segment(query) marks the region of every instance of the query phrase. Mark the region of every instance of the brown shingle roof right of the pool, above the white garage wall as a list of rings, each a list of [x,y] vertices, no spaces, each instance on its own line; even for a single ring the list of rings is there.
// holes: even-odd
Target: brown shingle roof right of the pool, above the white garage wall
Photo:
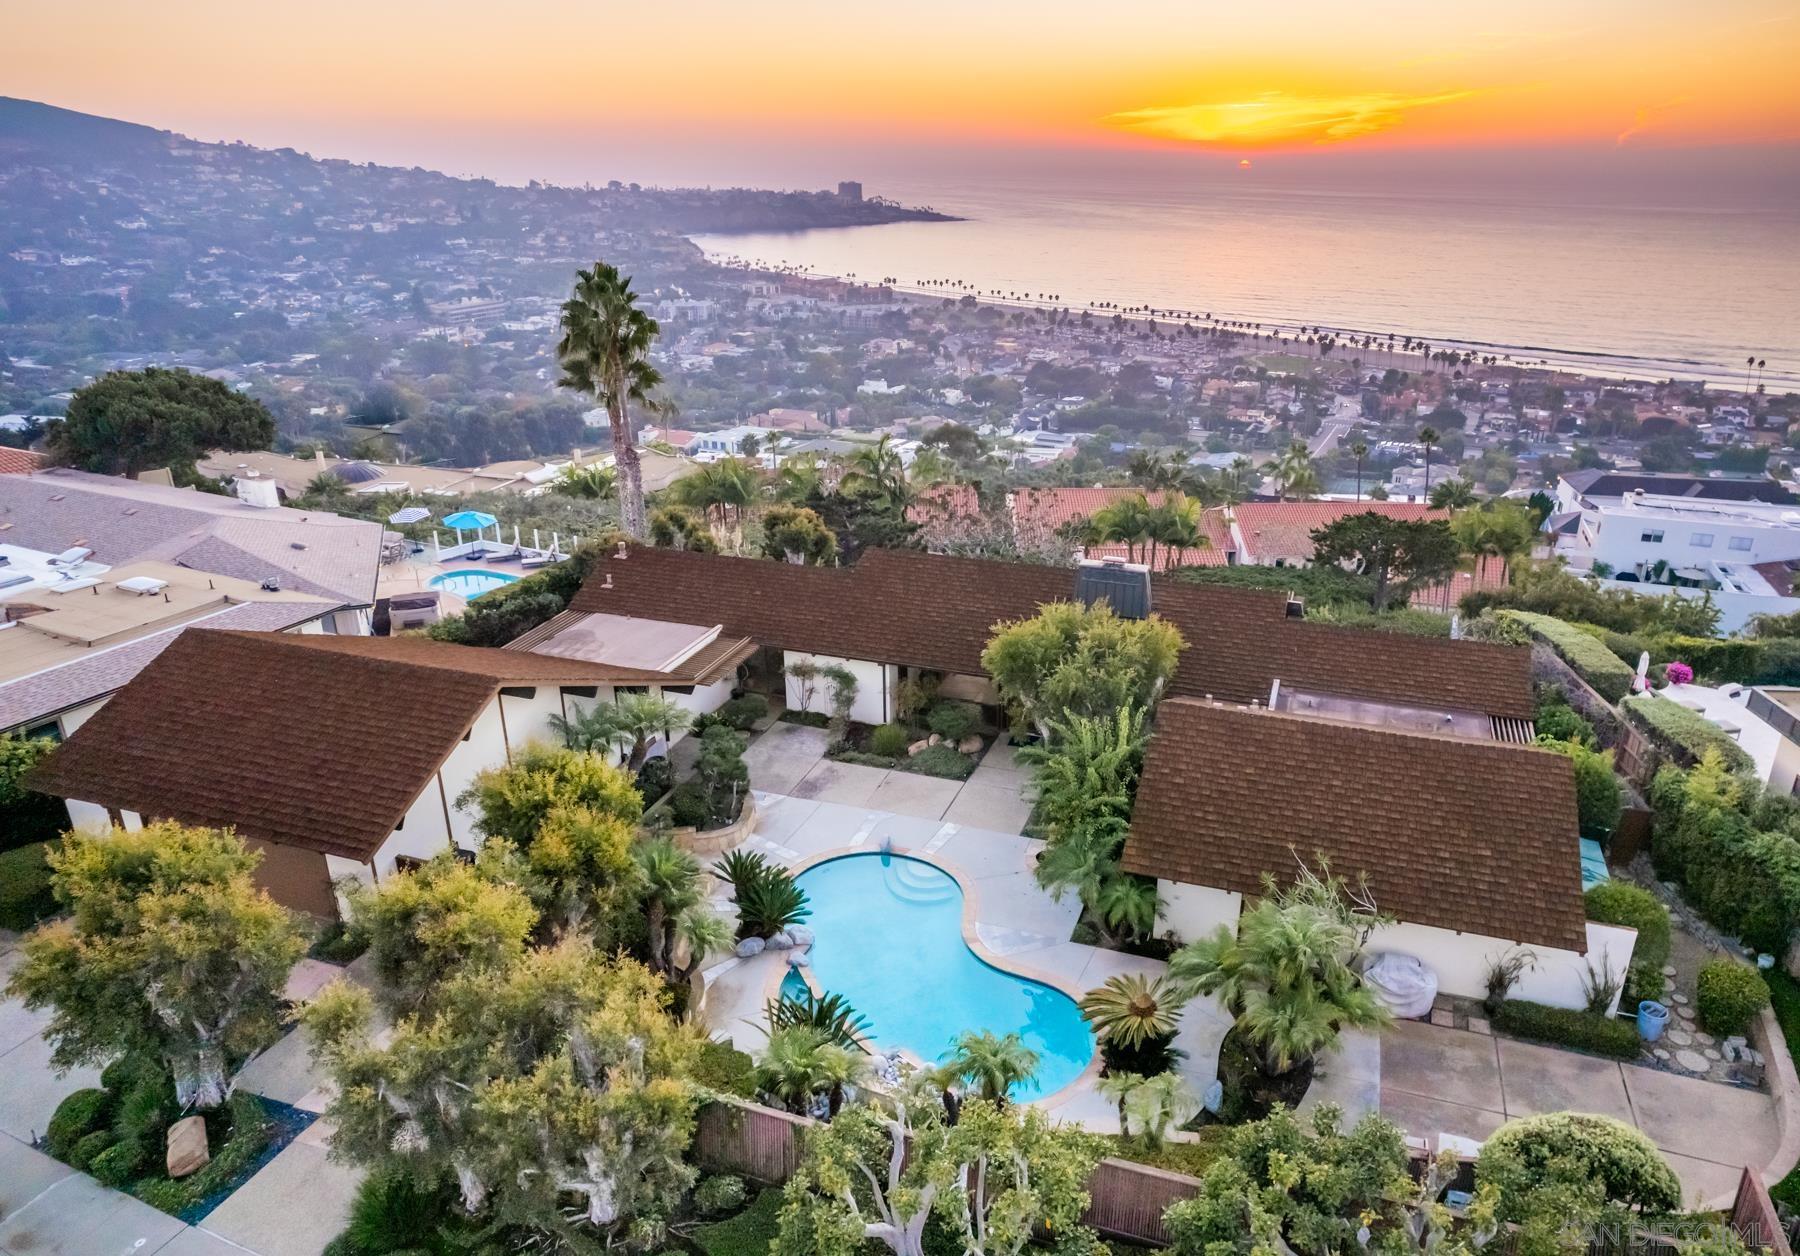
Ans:
[[[1399,920],[1586,952],[1577,835],[1561,754],[1172,698],[1123,867],[1258,894],[1325,855]]]

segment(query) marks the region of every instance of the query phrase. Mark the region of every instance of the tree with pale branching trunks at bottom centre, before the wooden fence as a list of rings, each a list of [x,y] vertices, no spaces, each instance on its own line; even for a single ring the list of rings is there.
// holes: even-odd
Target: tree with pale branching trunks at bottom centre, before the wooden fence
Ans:
[[[934,1224],[965,1256],[1019,1256],[1037,1231],[1094,1251],[1080,1218],[1098,1162],[1098,1139],[1035,1108],[976,1101],[950,1126],[920,1094],[850,1107],[808,1135],[770,1252],[925,1256]]]

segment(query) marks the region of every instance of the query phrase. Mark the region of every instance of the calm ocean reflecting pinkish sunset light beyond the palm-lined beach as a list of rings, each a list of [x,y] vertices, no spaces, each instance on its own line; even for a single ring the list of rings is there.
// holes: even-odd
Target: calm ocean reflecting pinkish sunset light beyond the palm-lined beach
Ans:
[[[1755,356],[1768,367],[1751,383],[1800,387],[1800,198],[1787,187],[1708,196],[1255,164],[1172,178],[1111,162],[913,171],[868,193],[965,221],[695,241],[720,261],[891,275],[905,290],[1420,336],[1593,374],[1741,389]]]

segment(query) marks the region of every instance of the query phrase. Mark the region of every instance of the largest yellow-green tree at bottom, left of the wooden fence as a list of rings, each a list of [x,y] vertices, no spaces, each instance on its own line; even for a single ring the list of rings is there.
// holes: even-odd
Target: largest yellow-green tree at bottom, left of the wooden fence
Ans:
[[[700,1035],[632,959],[567,939],[461,972],[383,1045],[369,995],[335,982],[306,1026],[335,1083],[333,1155],[454,1182],[464,1213],[515,1231],[508,1251],[655,1249],[693,1184]]]

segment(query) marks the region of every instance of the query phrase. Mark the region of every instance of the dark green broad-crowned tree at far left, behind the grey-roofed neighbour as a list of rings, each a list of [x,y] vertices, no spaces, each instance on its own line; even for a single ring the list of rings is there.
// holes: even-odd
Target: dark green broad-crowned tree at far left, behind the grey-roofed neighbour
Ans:
[[[191,371],[112,371],[76,390],[52,423],[50,457],[97,475],[169,468],[176,484],[200,482],[194,462],[211,450],[266,450],[275,417],[256,398]]]

